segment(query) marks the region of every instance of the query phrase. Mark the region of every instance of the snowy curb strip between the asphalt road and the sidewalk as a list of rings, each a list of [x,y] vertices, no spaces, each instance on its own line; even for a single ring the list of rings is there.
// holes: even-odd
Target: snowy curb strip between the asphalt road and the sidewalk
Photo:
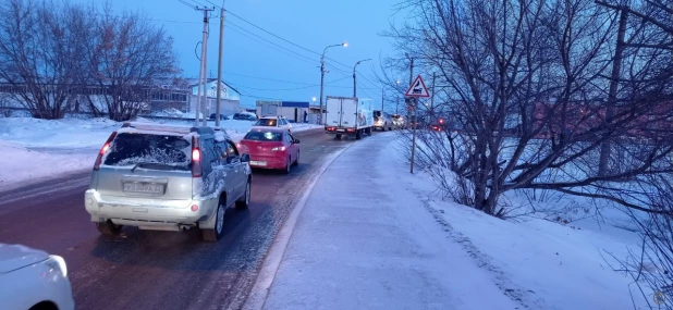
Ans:
[[[337,160],[344,151],[350,149],[353,145],[355,144],[350,144],[345,148],[332,153],[322,163],[318,174],[313,177],[309,183],[310,185],[306,188],[306,191],[304,193],[299,201],[297,201],[294,210],[292,210],[292,213],[290,213],[290,216],[283,224],[283,227],[276,236],[269,249],[269,252],[267,253],[267,258],[262,262],[262,266],[259,271],[259,274],[257,275],[257,280],[253,285],[253,289],[250,290],[250,294],[248,295],[245,303],[243,305],[243,309],[260,310],[264,308],[267,301],[267,296],[269,295],[269,289],[273,284],[273,280],[276,280],[276,273],[278,272],[278,269],[280,268],[280,264],[285,257],[285,249],[287,249],[287,244],[290,244],[290,239],[292,238],[292,234],[294,233],[296,222],[302,214],[302,211],[304,210],[304,207],[306,206],[308,197],[313,193],[316,183],[318,183],[322,174],[332,164],[332,162],[334,162],[334,160]]]

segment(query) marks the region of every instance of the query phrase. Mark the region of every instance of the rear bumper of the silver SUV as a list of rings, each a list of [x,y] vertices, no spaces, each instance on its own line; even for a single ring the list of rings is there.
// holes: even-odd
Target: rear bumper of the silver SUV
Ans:
[[[178,230],[181,225],[196,225],[207,221],[215,214],[218,200],[184,200],[184,203],[180,204],[185,207],[176,208],[103,199],[95,189],[88,189],[84,194],[84,204],[91,215],[91,222],[111,220],[114,224],[149,230]],[[147,202],[151,202],[151,199],[147,199]],[[198,206],[198,210],[192,211],[192,206]]]

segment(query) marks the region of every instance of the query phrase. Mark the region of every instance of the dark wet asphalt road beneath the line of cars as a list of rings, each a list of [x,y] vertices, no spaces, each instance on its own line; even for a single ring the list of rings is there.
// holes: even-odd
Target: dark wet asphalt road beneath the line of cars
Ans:
[[[299,165],[290,175],[255,171],[250,207],[227,211],[217,244],[197,230],[99,235],[84,209],[88,172],[0,193],[0,243],[65,258],[77,309],[238,309],[303,188],[327,154],[354,142],[322,131],[295,136]]]

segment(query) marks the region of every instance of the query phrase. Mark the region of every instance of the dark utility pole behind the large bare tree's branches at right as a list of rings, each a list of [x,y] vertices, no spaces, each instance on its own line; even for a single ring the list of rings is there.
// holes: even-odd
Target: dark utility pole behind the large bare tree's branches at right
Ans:
[[[620,9],[620,26],[617,28],[617,41],[614,50],[614,61],[612,62],[612,73],[610,76],[610,89],[608,90],[608,102],[605,107],[605,121],[612,121],[614,116],[614,102],[616,101],[616,92],[619,79],[622,74],[622,59],[624,57],[624,37],[626,35],[626,22],[628,13],[624,8]],[[603,141],[600,146],[600,159],[598,163],[598,175],[603,176],[610,170],[610,152],[612,149],[610,139]]]

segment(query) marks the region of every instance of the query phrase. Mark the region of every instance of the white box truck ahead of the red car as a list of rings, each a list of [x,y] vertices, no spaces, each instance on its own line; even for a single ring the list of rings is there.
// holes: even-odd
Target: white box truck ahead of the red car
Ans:
[[[326,101],[325,132],[341,139],[343,135],[360,139],[371,135],[374,127],[374,100],[328,96]]]

